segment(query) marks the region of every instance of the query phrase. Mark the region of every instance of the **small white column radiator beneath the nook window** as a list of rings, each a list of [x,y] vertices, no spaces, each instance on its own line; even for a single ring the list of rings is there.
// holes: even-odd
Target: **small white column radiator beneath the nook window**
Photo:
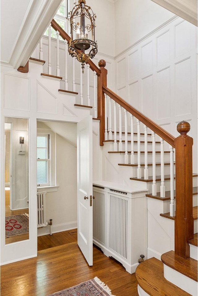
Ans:
[[[45,195],[46,191],[37,192],[37,227],[47,226]]]

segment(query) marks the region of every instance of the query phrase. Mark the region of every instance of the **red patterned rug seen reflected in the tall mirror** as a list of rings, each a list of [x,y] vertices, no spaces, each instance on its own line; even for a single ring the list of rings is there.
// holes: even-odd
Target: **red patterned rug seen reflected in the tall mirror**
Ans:
[[[29,218],[25,214],[6,217],[6,237],[29,232]]]

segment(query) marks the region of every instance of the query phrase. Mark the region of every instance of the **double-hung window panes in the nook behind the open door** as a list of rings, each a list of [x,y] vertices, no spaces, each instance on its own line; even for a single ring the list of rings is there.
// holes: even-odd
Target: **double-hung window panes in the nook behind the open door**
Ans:
[[[50,184],[49,134],[37,136],[37,185]]]

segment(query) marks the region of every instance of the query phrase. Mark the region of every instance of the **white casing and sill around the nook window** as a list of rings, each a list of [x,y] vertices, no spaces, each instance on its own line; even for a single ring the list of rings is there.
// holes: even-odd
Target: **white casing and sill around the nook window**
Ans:
[[[55,155],[55,134],[51,129],[37,129],[37,136],[49,135],[49,166],[48,183],[37,184],[38,188],[56,186],[56,155]]]

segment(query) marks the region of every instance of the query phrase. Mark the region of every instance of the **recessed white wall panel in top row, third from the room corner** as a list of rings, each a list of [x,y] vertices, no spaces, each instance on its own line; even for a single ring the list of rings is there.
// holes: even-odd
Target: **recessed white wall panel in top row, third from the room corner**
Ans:
[[[148,72],[153,68],[153,41],[142,47],[141,53],[142,73]]]

